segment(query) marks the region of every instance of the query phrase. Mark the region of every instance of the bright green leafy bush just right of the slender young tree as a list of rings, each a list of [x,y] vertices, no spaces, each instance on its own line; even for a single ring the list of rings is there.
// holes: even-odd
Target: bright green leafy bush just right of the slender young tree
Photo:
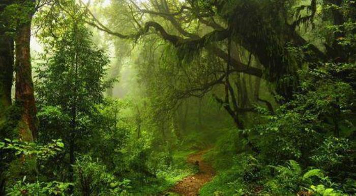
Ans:
[[[122,111],[129,106],[125,100],[105,98],[96,105],[97,113],[93,114],[89,129],[95,130],[87,139],[93,159],[100,158],[109,170],[122,173],[126,170],[124,150],[128,147],[132,128]],[[102,155],[106,156],[103,157]]]

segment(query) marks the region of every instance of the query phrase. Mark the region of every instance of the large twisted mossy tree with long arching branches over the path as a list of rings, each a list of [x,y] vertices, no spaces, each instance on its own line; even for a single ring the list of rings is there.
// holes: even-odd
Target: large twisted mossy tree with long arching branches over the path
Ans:
[[[200,86],[198,86],[195,89],[189,88],[185,91],[181,91],[182,95],[177,95],[177,97],[186,98],[189,96],[194,96],[194,94],[203,95],[206,92],[211,91],[213,87],[220,86],[220,85],[226,86],[224,87],[225,89],[227,89],[227,91],[225,91],[226,94],[224,96],[225,98],[221,99],[217,97],[217,101],[224,105],[224,108],[234,119],[236,125],[240,128],[244,126],[242,125],[242,122],[238,118],[238,113],[240,114],[246,113],[246,111],[251,111],[252,109],[249,106],[246,107],[246,105],[244,104],[248,102],[247,101],[248,96],[244,95],[247,92],[246,82],[242,85],[240,81],[236,81],[236,78],[238,77],[235,76],[231,76],[230,78],[233,79],[232,81],[230,81],[228,79],[229,75],[236,75],[236,74],[239,75],[240,73],[246,73],[259,78],[263,77],[270,82],[282,83],[282,85],[281,84],[276,85],[277,91],[282,95],[284,95],[284,97],[290,98],[291,93],[294,90],[295,78],[292,79],[294,81],[287,81],[287,83],[285,84],[280,81],[283,80],[282,79],[283,77],[289,77],[289,76],[294,77],[293,75],[295,75],[296,70],[293,68],[294,65],[289,65],[288,63],[284,63],[281,60],[281,57],[283,58],[287,57],[288,53],[284,49],[283,43],[280,45],[281,41],[276,40],[279,38],[272,37],[268,33],[268,31],[273,32],[274,29],[268,29],[269,27],[266,27],[267,29],[266,34],[254,35],[254,37],[247,38],[248,40],[246,42],[245,41],[243,42],[240,39],[241,35],[245,35],[245,34],[247,35],[249,34],[248,33],[249,31],[258,32],[255,29],[253,29],[259,25],[259,23],[257,23],[255,20],[259,20],[258,18],[263,18],[264,17],[263,14],[270,14],[268,15],[269,18],[271,18],[273,14],[271,13],[256,14],[255,11],[251,12],[251,15],[256,14],[256,16],[253,18],[251,17],[251,20],[253,21],[249,21],[250,24],[248,24],[247,26],[245,24],[240,24],[238,21],[231,22],[231,20],[233,20],[232,18],[240,17],[233,14],[233,13],[240,13],[239,11],[236,11],[238,9],[242,10],[245,7],[251,7],[249,9],[258,10],[261,7],[265,7],[266,9],[272,12],[273,6],[268,6],[267,4],[262,4],[262,3],[259,4],[255,1],[253,1],[252,3],[243,2],[241,3],[242,5],[239,4],[239,1],[226,3],[226,5],[224,5],[224,3],[214,2],[214,1],[208,1],[204,3],[201,3],[199,1],[187,1],[187,2],[152,1],[150,3],[143,4],[143,5],[138,5],[134,3],[134,1],[130,1],[126,3],[122,3],[122,2],[115,3],[113,6],[116,6],[116,4],[120,5],[118,9],[123,9],[122,7],[127,8],[126,12],[128,12],[127,16],[129,17],[126,19],[132,21],[131,25],[130,24],[125,25],[125,27],[127,26],[125,30],[119,30],[119,31],[123,31],[123,32],[131,31],[133,33],[127,33],[125,35],[123,33],[117,33],[114,30],[111,31],[109,27],[103,25],[100,21],[97,20],[94,14],[86,8],[86,5],[81,4],[81,6],[84,7],[84,10],[86,10],[86,12],[88,13],[88,19],[86,19],[85,21],[88,24],[98,27],[99,30],[105,31],[111,35],[123,39],[142,38],[143,36],[148,34],[150,29],[155,29],[158,32],[158,35],[160,36],[161,39],[169,42],[176,48],[175,52],[179,59],[176,60],[173,64],[181,64],[180,61],[188,62],[188,63],[192,62],[191,61],[192,59],[199,58],[205,55],[204,51],[218,58],[218,60],[215,61],[218,62],[219,60],[222,60],[226,64],[228,64],[228,66],[223,69],[221,69],[220,67],[214,68],[214,70],[217,71],[215,73],[213,73],[213,71],[211,70],[204,70],[205,72],[211,71],[211,73],[213,73],[211,75],[215,77],[211,77],[212,79],[207,83],[203,83],[203,85],[202,82],[199,82],[198,85]],[[278,3],[271,3],[271,4],[275,6],[282,6]],[[214,13],[214,11],[210,10],[212,7],[216,7],[218,9],[217,12]],[[227,9],[228,7],[231,8],[231,10],[224,10]],[[180,9],[175,10],[174,8],[180,8]],[[286,12],[286,10],[287,9],[280,9],[279,11],[276,12]],[[228,11],[228,14],[223,15],[222,13],[225,11]],[[147,17],[139,17],[139,15],[146,15]],[[279,13],[277,13],[276,15],[279,15]],[[110,20],[114,20],[114,18]],[[227,21],[228,27],[227,28],[224,27],[222,22],[216,22],[216,20]],[[268,19],[265,20],[266,21],[264,22],[266,23],[267,21],[270,21]],[[276,22],[278,22],[277,20],[286,22],[285,18],[277,18],[275,20]],[[167,22],[167,25],[160,24],[160,23],[163,24],[164,22]],[[190,24],[197,26],[197,28],[184,27],[187,25],[189,26]],[[203,25],[206,28],[200,29],[199,28],[200,25]],[[244,32],[237,31],[240,29],[238,25],[246,26],[246,29],[243,30]],[[267,26],[268,24],[265,25]],[[280,26],[286,28],[284,24],[280,24]],[[278,27],[275,27],[275,29],[277,29]],[[206,31],[206,29],[208,29],[208,31]],[[258,47],[257,49],[254,50],[249,45],[253,45],[253,47],[255,47],[254,41],[258,39],[260,41],[256,41],[256,42],[261,43],[262,47]],[[236,47],[234,47],[234,49],[231,49],[231,47],[225,47],[226,46],[225,40],[226,41],[230,40],[228,41],[229,43],[226,45],[231,46],[232,45],[231,42],[232,42],[233,45],[238,45],[238,47],[241,47],[241,50],[248,51],[250,58],[247,58],[247,61],[246,58],[244,59],[239,58],[238,57],[239,55],[236,55],[236,53],[239,53],[239,50],[235,49]],[[222,42],[223,44],[219,44],[218,42]],[[271,58],[269,58],[270,56]],[[263,75],[262,69],[257,68],[255,66],[250,66],[250,61],[252,57],[253,59],[256,59],[258,63],[264,65],[264,68],[267,70],[266,73],[269,74]],[[194,61],[194,63],[191,63],[191,65],[192,64],[196,64],[196,62]],[[289,67],[291,68],[289,69]],[[228,71],[226,72],[226,70]],[[234,88],[230,83],[232,83],[234,86],[235,85],[239,85],[239,86],[236,86],[236,88]],[[254,88],[254,86],[251,88]],[[238,97],[241,96],[243,96],[242,97],[243,99],[239,100]],[[258,97],[254,97],[254,98],[257,98],[255,101],[261,102],[260,100],[258,100]],[[242,101],[244,103],[242,103]],[[263,103],[268,104],[268,106],[271,108],[272,104],[269,103],[268,101],[264,100]],[[231,107],[229,105],[231,105]]]

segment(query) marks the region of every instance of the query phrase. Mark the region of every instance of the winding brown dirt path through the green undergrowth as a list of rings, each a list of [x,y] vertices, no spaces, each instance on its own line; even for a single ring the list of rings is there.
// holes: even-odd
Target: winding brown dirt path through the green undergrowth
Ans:
[[[196,161],[199,161],[199,172],[192,176],[188,176],[177,183],[171,189],[172,192],[184,196],[196,196],[203,184],[212,180],[214,176],[213,167],[202,161],[202,155],[207,151],[209,151],[209,149],[192,154],[188,157],[187,161],[191,164],[195,164]]]

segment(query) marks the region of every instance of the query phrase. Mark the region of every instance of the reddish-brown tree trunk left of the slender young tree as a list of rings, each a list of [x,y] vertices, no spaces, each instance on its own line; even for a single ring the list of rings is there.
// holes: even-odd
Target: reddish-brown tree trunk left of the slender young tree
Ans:
[[[18,27],[15,36],[15,71],[16,71],[16,102],[22,108],[18,131],[22,141],[33,141],[37,136],[38,119],[35,105],[34,85],[32,81],[31,56],[29,40],[31,37],[31,19],[33,13]]]

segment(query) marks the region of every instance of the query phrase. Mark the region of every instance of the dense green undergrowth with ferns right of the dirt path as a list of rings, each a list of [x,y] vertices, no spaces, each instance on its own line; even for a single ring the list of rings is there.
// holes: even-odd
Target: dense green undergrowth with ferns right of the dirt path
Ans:
[[[341,73],[349,80],[339,77]],[[354,119],[353,73],[352,65],[328,63],[302,71],[301,92],[281,105],[276,114],[264,112],[266,123],[247,130],[257,145],[256,157],[238,155],[237,161],[228,167],[219,164],[216,167],[222,169],[219,176],[200,193],[212,195],[217,190],[221,195],[354,193],[353,150],[346,138],[354,131],[350,123]],[[223,146],[217,144],[217,149]],[[236,149],[228,151],[236,153]],[[213,157],[219,162],[231,162],[231,158],[219,153]]]

